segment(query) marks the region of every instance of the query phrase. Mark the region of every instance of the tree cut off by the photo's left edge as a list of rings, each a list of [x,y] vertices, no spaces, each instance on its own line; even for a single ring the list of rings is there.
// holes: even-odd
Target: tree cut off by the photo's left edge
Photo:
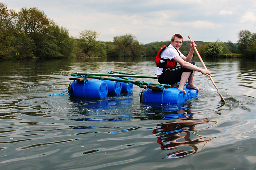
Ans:
[[[12,40],[17,13],[0,3],[0,59],[11,58]]]

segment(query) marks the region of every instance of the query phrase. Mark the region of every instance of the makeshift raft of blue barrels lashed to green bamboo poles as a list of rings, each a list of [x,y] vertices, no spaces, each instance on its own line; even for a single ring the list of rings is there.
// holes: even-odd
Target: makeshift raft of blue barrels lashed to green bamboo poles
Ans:
[[[100,99],[120,93],[132,92],[133,85],[143,88],[140,92],[141,103],[170,103],[180,104],[191,97],[198,95],[197,90],[184,87],[187,94],[178,89],[179,84],[165,85],[144,81],[134,81],[132,78],[154,78],[156,76],[144,76],[130,73],[109,71],[102,73],[80,73],[72,74],[73,77],[68,87],[71,97],[82,97]]]

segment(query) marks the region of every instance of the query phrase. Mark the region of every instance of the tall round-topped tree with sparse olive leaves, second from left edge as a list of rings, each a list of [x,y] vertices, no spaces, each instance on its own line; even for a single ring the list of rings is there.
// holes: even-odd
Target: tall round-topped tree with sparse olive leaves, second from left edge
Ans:
[[[47,58],[54,53],[51,47],[52,42],[49,42],[49,30],[47,29],[49,26],[50,20],[46,17],[43,11],[32,7],[22,8],[20,10],[16,24],[17,37],[26,37],[30,42],[30,45],[27,46],[26,49],[28,51],[33,51],[33,54],[26,56],[27,58]],[[52,38],[50,38],[50,41],[52,41]],[[16,39],[16,44],[24,44],[24,41],[18,38]],[[16,46],[15,54],[18,54],[18,56],[24,54],[22,50],[24,49]],[[24,56],[20,57],[23,58]]]

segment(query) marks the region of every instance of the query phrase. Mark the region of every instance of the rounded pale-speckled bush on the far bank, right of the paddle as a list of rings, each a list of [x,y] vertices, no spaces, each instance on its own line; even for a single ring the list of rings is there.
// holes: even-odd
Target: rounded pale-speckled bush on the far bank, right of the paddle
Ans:
[[[222,53],[222,49],[220,42],[210,42],[205,46],[203,54],[205,57],[218,57]]]

